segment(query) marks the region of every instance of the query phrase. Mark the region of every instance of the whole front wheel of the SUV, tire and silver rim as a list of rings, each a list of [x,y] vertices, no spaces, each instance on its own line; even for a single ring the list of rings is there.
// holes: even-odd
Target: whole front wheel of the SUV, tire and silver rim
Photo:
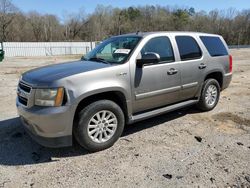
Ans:
[[[113,146],[121,136],[124,124],[121,108],[113,101],[100,100],[80,111],[79,121],[73,131],[82,147],[96,152]]]

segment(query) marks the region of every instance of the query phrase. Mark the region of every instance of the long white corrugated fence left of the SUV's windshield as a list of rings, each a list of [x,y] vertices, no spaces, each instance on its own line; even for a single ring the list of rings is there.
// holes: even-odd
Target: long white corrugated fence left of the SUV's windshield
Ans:
[[[6,57],[86,54],[95,42],[4,42]]]

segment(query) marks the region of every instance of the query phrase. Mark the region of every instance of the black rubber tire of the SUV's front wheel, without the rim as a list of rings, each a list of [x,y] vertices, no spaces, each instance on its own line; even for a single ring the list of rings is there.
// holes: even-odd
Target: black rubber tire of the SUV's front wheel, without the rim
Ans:
[[[107,110],[113,113],[117,119],[117,127],[113,136],[103,143],[94,142],[88,135],[88,123],[98,112]],[[124,114],[121,108],[113,101],[100,100],[83,108],[79,113],[79,121],[74,127],[74,136],[77,142],[88,151],[96,152],[111,147],[121,136],[124,129]]]

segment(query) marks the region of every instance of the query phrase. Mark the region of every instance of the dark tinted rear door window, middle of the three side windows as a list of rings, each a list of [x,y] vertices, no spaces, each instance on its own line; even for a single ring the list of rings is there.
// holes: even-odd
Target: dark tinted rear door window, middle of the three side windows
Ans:
[[[176,36],[175,39],[182,61],[199,59],[202,56],[201,49],[193,37]]]

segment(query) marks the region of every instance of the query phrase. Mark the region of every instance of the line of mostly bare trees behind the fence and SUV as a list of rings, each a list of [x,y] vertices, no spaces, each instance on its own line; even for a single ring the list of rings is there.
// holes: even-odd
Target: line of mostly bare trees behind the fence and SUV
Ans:
[[[97,5],[56,15],[23,13],[11,0],[0,0],[0,41],[101,41],[109,36],[137,31],[198,31],[220,34],[230,45],[250,44],[250,9],[198,11],[194,8],[137,6],[113,8]]]

